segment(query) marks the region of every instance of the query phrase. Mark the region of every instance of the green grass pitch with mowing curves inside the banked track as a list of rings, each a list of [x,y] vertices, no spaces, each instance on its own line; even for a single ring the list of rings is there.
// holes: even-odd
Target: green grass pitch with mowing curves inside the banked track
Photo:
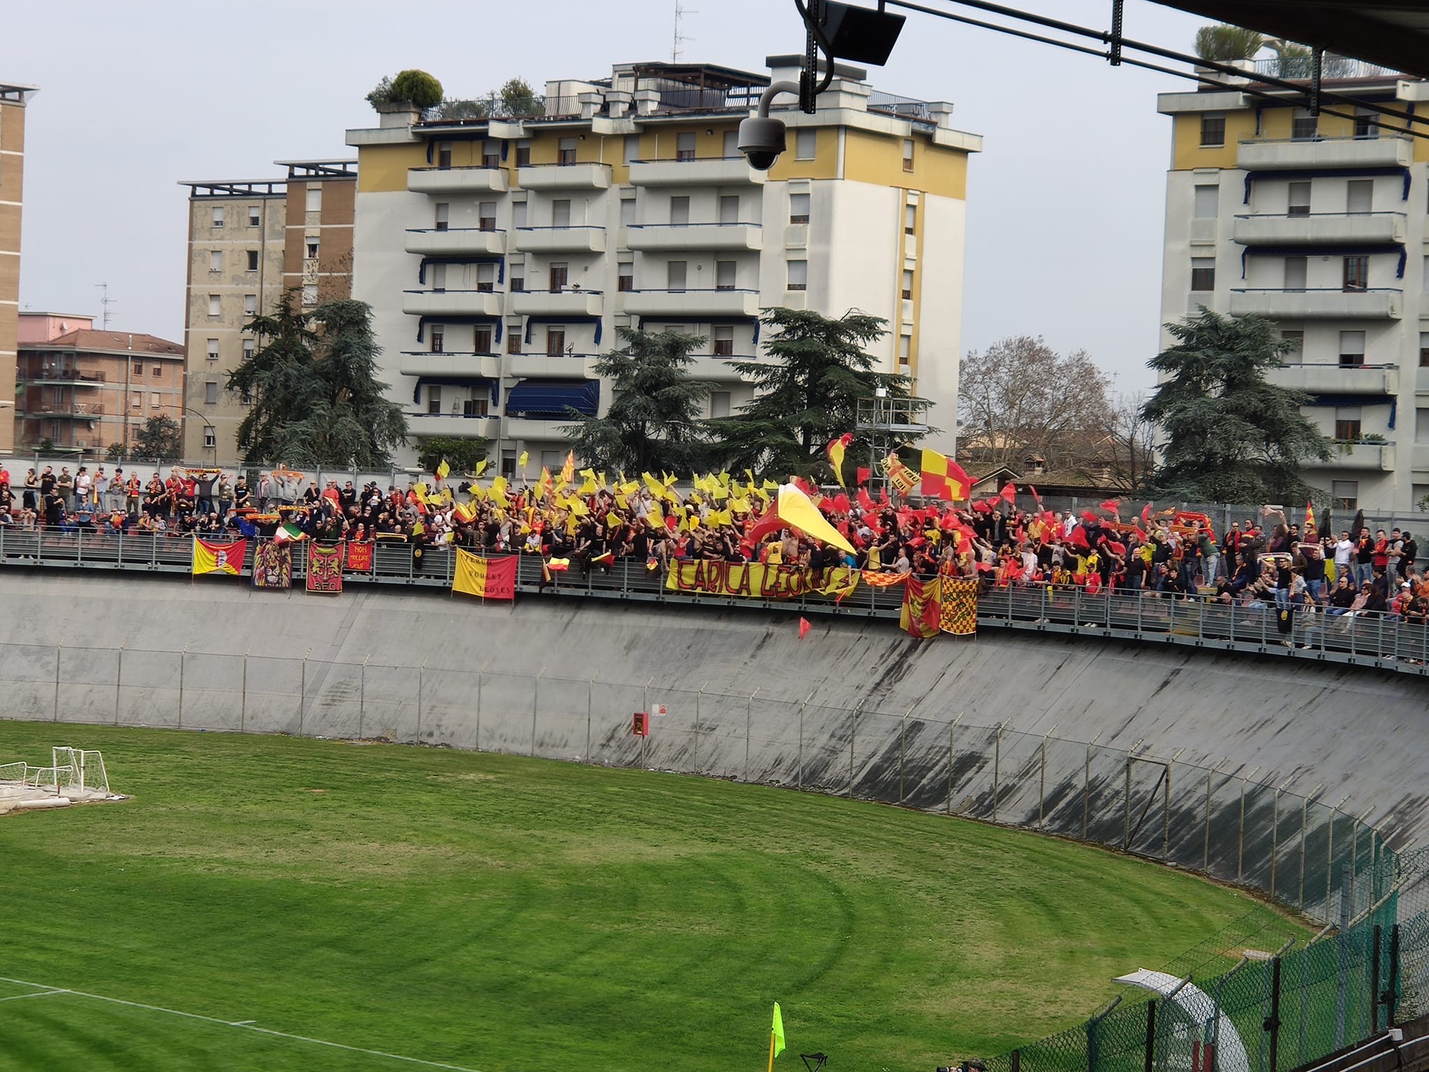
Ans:
[[[61,740],[134,799],[0,818],[0,1069],[727,1072],[763,1065],[777,999],[786,1072],[929,1072],[1082,1019],[1250,906],[812,793],[0,722],[3,759]]]

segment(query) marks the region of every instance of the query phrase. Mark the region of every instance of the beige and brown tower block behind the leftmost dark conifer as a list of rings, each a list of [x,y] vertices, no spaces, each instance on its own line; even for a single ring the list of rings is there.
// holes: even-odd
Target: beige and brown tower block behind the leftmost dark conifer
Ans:
[[[354,160],[277,160],[286,179],[189,187],[184,457],[234,465],[247,407],[227,373],[260,342],[244,330],[292,290],[300,309],[352,296]],[[280,460],[280,459],[267,459]]]

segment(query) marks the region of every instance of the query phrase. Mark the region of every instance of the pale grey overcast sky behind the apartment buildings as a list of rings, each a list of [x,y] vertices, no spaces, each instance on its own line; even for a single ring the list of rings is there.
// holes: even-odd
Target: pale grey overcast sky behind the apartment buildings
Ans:
[[[686,61],[762,70],[802,50],[790,0],[684,3]],[[1086,26],[1110,16],[1107,0],[1022,6]],[[179,180],[282,177],[273,160],[354,156],[343,131],[374,124],[363,94],[403,67],[476,96],[513,76],[539,89],[669,59],[673,11],[674,0],[13,4],[0,80],[40,87],[26,123],[21,309],[99,313],[107,282],[113,327],[181,342]],[[1199,24],[1132,0],[1125,33],[1189,51]],[[1149,386],[1170,156],[1156,93],[1192,83],[917,13],[870,80],[950,100],[955,126],[985,137],[969,169],[962,349],[1042,334],[1089,350],[1119,392]]]

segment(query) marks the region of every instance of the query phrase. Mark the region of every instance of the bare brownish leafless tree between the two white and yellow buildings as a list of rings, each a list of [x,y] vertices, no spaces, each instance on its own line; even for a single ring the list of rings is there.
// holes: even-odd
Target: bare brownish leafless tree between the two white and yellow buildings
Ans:
[[[989,469],[1020,470],[1030,455],[1047,469],[1077,467],[1112,426],[1109,383],[1086,350],[1063,356],[1040,337],[970,350],[959,374],[959,455]]]

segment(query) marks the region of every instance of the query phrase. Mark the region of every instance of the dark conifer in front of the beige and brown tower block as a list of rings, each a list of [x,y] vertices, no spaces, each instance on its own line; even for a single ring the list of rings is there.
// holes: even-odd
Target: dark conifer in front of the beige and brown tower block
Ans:
[[[244,463],[390,465],[407,422],[377,380],[382,350],[366,302],[329,302],[304,313],[289,290],[272,314],[244,329],[263,343],[229,373],[229,390],[249,406],[239,425]]]

